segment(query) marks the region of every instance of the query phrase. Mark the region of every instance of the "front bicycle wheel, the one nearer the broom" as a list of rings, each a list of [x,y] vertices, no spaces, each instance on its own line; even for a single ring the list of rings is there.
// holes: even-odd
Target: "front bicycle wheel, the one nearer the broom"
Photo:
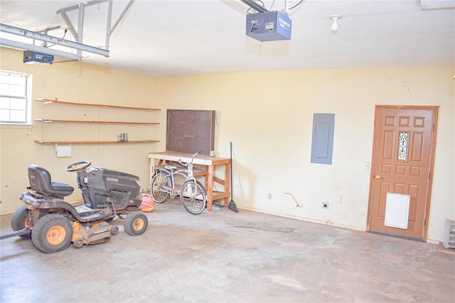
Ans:
[[[182,185],[180,201],[190,214],[200,214],[207,202],[207,192],[199,181],[186,181]]]

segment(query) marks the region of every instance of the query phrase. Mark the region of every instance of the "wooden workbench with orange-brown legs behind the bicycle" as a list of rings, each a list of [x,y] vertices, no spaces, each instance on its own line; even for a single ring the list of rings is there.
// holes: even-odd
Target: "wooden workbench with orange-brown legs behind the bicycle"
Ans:
[[[190,162],[192,154],[189,153],[177,153],[172,151],[165,151],[159,153],[149,153],[150,158],[150,178],[155,172],[156,165],[164,165],[167,162]],[[195,175],[205,177],[205,189],[207,190],[207,210],[212,210],[213,200],[224,199],[224,205],[229,204],[230,197],[230,159],[220,157],[210,157],[208,155],[196,155],[193,161],[193,165],[204,165],[205,170],[198,172]],[[221,179],[215,176],[215,167],[218,165],[224,165],[225,167],[225,179]],[[223,185],[223,192],[213,192],[213,184],[218,183]]]

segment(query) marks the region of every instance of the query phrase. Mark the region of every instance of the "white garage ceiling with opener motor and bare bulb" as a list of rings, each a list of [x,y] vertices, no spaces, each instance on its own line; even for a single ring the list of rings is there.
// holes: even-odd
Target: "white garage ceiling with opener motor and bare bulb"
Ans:
[[[79,2],[1,0],[0,21],[29,31],[65,28],[56,11]],[[114,0],[113,22],[127,3]],[[264,4],[272,11],[285,7],[284,1]],[[84,53],[82,61],[156,76],[455,65],[454,7],[454,0],[306,0],[289,13],[291,40],[261,43],[245,35],[249,6],[240,0],[137,0],[112,34],[110,56]],[[336,35],[332,14],[343,17]],[[68,16],[77,28],[77,10]],[[107,2],[87,6],[82,43],[104,48],[106,25]],[[73,40],[69,31],[65,39]]]

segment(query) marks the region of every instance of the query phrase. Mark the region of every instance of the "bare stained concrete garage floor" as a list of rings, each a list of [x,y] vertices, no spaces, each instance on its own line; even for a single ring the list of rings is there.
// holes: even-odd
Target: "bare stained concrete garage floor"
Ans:
[[[166,202],[147,216],[141,236],[120,225],[60,253],[0,241],[0,301],[455,302],[455,255],[432,244],[227,207],[193,216]]]

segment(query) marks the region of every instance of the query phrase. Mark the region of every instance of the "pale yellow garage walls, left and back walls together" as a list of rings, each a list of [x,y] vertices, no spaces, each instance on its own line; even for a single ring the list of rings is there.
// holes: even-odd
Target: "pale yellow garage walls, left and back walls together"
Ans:
[[[72,158],[55,158],[53,146],[33,143],[40,136],[38,126],[1,128],[2,214],[21,204],[17,197],[28,183],[26,166],[38,160],[62,182],[74,183],[75,178],[64,167],[87,158],[97,166],[139,175],[142,187],[148,187],[147,152],[165,148],[166,109],[212,109],[217,112],[217,155],[229,157],[232,141],[237,206],[365,230],[370,186],[366,166],[371,162],[375,105],[402,104],[440,106],[429,241],[441,241],[444,220],[455,219],[454,67],[154,78],[77,63],[26,67],[21,65],[21,53],[2,49],[1,68],[11,65],[14,70],[33,73],[34,97],[161,108],[154,116],[161,125],[153,134],[161,142],[73,145]],[[335,114],[333,165],[309,162],[314,113]],[[284,192],[294,194],[303,207],[297,208]],[[322,202],[330,202],[330,209],[322,209]]]

